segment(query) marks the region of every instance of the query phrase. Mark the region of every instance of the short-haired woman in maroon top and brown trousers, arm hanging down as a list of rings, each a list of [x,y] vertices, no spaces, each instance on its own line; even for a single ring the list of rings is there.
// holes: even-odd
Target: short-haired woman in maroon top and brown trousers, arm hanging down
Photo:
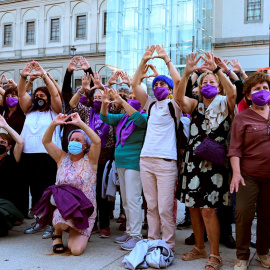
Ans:
[[[245,270],[250,256],[251,225],[257,211],[257,260],[270,267],[270,77],[255,72],[244,83],[250,108],[235,117],[228,156],[233,178],[231,193],[236,193],[235,270]]]

